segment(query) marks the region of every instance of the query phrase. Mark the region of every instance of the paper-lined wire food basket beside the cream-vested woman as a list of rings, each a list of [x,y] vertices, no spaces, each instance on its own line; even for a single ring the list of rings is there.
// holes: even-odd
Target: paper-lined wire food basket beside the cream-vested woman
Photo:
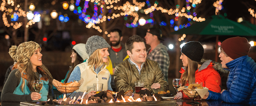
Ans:
[[[80,82],[74,81],[70,83],[61,83],[57,80],[53,80],[52,84],[57,88],[57,90],[61,93],[72,93],[79,89]]]

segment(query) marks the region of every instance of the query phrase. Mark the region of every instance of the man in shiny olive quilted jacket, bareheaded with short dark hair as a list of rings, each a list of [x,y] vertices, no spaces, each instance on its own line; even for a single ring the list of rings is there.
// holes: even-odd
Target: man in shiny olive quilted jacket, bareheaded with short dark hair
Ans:
[[[146,59],[146,47],[144,39],[138,35],[133,35],[125,43],[125,49],[129,58],[115,67],[114,81],[116,92],[121,90],[135,91],[134,82],[143,81],[144,88],[153,93],[167,91],[168,83],[157,62]]]

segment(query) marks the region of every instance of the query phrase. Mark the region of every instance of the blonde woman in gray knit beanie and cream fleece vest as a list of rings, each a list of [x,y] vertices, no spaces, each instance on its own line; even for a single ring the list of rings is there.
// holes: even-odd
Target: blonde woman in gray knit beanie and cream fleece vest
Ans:
[[[110,84],[111,75],[108,69],[106,69],[106,66],[109,64],[108,49],[110,49],[110,45],[103,37],[96,35],[88,38],[85,47],[89,58],[86,62],[78,64],[74,68],[68,82],[80,81],[82,84],[76,92],[78,94],[89,92],[84,97],[87,99],[95,95],[96,91],[93,91],[93,84],[102,83],[103,91],[112,90],[112,88]]]

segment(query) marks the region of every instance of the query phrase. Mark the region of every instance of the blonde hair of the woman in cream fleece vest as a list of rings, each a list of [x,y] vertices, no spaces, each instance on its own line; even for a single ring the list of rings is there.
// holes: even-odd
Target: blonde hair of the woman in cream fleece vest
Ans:
[[[100,55],[101,49],[95,50],[91,56],[88,58],[88,66],[93,67],[95,65],[95,68],[100,67],[103,64],[102,57]],[[108,62],[104,63],[104,65],[109,65],[109,56],[107,57]]]

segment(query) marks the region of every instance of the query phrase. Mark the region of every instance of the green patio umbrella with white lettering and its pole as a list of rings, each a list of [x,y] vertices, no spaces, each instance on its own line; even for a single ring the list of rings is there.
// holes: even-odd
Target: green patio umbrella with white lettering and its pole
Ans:
[[[216,36],[216,53],[215,61],[218,58],[218,36],[235,35],[235,36],[256,36],[256,31],[248,28],[238,22],[226,19],[222,15],[212,16],[202,22],[196,22],[187,28],[179,29],[171,34],[186,34],[186,35],[214,35]]]

